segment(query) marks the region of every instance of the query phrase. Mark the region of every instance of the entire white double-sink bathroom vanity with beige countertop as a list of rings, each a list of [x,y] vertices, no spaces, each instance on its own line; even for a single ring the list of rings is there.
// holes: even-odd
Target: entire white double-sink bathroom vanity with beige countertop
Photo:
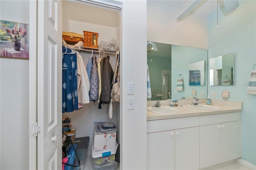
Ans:
[[[220,110],[206,110],[188,107],[192,102],[179,100],[179,113],[147,111],[147,169],[196,170],[241,157],[242,103],[212,100]]]

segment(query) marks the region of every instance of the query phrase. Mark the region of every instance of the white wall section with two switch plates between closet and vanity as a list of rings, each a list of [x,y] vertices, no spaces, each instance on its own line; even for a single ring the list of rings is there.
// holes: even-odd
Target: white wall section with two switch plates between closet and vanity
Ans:
[[[123,0],[121,11],[121,102],[120,169],[146,169],[146,10],[147,1]],[[127,83],[134,82],[134,95]],[[134,97],[134,110],[127,110],[127,97]]]

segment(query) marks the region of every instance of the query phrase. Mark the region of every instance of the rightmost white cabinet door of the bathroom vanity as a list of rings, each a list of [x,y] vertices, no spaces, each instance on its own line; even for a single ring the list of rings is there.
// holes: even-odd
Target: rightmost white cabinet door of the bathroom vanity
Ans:
[[[221,124],[220,132],[220,160],[226,162],[228,160],[239,158],[239,130],[238,121]]]

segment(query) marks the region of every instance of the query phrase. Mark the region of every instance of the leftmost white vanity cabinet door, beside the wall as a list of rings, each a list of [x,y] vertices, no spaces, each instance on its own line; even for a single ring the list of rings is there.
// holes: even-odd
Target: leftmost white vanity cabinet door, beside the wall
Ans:
[[[147,169],[174,170],[174,130],[147,134]]]

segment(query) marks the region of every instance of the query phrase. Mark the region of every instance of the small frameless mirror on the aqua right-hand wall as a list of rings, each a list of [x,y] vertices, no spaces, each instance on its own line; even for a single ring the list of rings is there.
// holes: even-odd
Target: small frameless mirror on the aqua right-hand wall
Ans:
[[[209,59],[209,85],[234,85],[234,53]]]

